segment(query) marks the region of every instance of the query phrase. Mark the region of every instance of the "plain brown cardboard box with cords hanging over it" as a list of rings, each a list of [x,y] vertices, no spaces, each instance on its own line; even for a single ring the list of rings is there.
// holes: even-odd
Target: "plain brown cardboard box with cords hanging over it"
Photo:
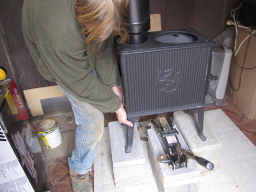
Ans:
[[[250,35],[250,33],[251,30],[238,30],[236,49],[238,49],[239,45],[247,36]],[[254,68],[256,67],[255,49],[256,32],[244,41],[237,55],[232,57],[230,66],[230,82],[228,82],[226,90],[227,96],[249,119],[256,118],[256,68]]]

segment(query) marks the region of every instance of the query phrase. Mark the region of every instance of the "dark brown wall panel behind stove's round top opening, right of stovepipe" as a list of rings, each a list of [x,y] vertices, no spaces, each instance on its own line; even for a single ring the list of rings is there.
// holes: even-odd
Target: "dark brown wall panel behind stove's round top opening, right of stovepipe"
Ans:
[[[166,30],[193,28],[210,39],[228,26],[230,11],[240,0],[166,0]]]

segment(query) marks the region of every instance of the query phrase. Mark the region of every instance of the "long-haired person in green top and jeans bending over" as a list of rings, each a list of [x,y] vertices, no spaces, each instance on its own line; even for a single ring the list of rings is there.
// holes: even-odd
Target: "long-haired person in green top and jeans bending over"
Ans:
[[[92,191],[89,171],[104,130],[102,112],[129,126],[117,86],[114,36],[125,43],[128,0],[25,0],[22,30],[40,74],[69,99],[77,130],[68,156],[73,191]]]

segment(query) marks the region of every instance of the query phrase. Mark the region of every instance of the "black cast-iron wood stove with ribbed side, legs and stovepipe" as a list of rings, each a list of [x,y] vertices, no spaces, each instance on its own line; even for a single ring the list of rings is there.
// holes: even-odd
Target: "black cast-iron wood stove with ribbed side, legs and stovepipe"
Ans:
[[[117,44],[128,120],[134,125],[141,116],[193,109],[198,114],[198,135],[206,140],[204,107],[214,105],[208,83],[215,43],[193,29],[147,32],[148,0],[131,0],[129,7],[131,39]],[[127,126],[127,153],[133,129]]]

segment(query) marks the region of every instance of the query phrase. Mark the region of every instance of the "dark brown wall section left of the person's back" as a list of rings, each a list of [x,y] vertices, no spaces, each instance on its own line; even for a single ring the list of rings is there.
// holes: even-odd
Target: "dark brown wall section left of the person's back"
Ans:
[[[0,1],[0,17],[4,33],[2,40],[6,41],[6,49],[9,50],[12,58],[8,63],[12,67],[8,68],[14,70],[12,71],[13,77],[21,90],[20,92],[49,85],[37,71],[24,41],[21,28],[22,3],[23,1],[19,0]],[[10,73],[9,70],[8,73]]]

